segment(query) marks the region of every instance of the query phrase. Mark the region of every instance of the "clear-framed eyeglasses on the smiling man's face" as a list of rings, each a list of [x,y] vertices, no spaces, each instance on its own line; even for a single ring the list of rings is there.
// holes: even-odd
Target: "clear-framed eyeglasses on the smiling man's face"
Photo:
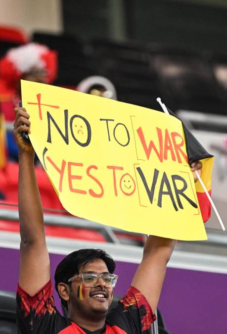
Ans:
[[[111,286],[111,287],[116,286],[118,275],[109,274],[109,273],[104,273],[104,274],[84,273],[76,277],[70,278],[68,282],[72,282],[80,278],[82,279],[82,282],[85,285],[92,284],[92,286],[96,286],[96,284],[98,283],[99,277],[102,279],[103,282],[105,282],[106,286]]]

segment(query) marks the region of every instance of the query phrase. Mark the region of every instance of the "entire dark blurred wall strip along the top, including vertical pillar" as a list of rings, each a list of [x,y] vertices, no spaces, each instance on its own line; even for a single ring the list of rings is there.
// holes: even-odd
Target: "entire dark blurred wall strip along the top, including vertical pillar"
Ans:
[[[64,0],[64,29],[82,38],[162,42],[227,54],[227,3],[224,3],[218,0]]]

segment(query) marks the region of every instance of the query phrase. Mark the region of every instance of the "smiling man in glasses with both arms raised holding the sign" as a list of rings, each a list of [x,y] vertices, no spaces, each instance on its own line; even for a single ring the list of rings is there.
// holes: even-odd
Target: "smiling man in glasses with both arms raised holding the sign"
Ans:
[[[55,272],[55,288],[69,318],[54,306],[44,218],[34,169],[34,149],[21,137],[30,133],[29,114],[15,108],[14,136],[19,149],[18,202],[20,216],[20,273],[17,291],[19,333],[138,334],[155,320],[166,265],[176,240],[149,236],[132,286],[108,313],[117,283],[115,263],[104,251],[82,249],[66,256]],[[201,173],[202,164],[192,172]],[[196,177],[194,176],[196,182]]]

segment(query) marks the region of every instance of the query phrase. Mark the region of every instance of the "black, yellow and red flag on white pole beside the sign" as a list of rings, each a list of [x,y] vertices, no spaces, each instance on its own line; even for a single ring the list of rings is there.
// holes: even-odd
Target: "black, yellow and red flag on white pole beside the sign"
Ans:
[[[170,115],[178,118],[169,108],[167,108]],[[211,178],[214,156],[206,151],[206,149],[197,141],[190,130],[182,122],[184,138],[186,143],[186,151],[189,165],[193,162],[201,161],[203,164],[201,179],[211,195]],[[207,198],[199,181],[195,183],[196,194],[199,202],[200,211],[204,223],[211,216],[211,203]]]

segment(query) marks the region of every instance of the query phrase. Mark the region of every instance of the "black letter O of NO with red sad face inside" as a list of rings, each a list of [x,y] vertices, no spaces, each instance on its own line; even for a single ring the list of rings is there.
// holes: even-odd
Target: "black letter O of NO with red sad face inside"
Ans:
[[[91,126],[88,120],[80,115],[70,119],[70,129],[73,139],[80,146],[88,146],[91,142]]]

